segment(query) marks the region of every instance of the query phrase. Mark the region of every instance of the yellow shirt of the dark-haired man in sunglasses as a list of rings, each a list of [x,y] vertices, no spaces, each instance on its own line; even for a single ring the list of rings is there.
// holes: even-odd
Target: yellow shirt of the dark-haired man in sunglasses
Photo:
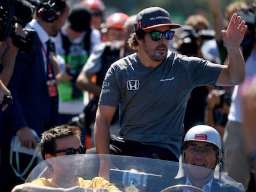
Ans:
[[[109,191],[118,190],[118,188],[109,181],[105,180],[105,178],[102,177],[95,177],[92,180],[83,180],[82,177],[79,177],[79,186],[83,186],[85,188],[105,188]],[[53,188],[59,188],[61,186],[58,186],[53,178],[46,179],[45,177],[37,178],[33,180],[32,183],[36,183],[37,185],[42,186],[49,186]]]

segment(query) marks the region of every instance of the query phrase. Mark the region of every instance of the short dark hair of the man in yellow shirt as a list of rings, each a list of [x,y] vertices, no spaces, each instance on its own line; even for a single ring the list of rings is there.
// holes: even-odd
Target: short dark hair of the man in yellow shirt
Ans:
[[[38,150],[45,159],[45,154],[53,154],[56,149],[55,141],[58,138],[74,135],[80,138],[81,130],[77,126],[60,125],[44,131],[38,144]]]

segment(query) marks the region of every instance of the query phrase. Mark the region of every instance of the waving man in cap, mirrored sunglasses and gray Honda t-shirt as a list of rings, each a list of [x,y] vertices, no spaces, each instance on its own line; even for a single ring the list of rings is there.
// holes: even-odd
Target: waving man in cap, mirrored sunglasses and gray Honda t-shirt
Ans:
[[[114,62],[103,82],[94,127],[98,153],[178,161],[193,88],[233,86],[244,80],[239,46],[247,25],[241,17],[234,14],[222,31],[228,65],[169,51],[173,30],[179,27],[161,7],[149,7],[137,15],[135,33],[129,39],[137,52]],[[120,130],[115,138],[109,135],[109,124],[117,107]],[[107,171],[102,166],[100,174]]]

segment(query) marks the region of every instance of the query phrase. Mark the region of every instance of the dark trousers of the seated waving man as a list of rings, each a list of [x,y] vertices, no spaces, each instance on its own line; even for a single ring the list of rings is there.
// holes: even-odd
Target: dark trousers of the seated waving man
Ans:
[[[96,154],[96,148],[88,149],[87,153]],[[142,144],[137,141],[119,140],[115,135],[111,135],[110,137],[109,153],[121,156],[147,157],[179,162],[179,159],[169,149]]]

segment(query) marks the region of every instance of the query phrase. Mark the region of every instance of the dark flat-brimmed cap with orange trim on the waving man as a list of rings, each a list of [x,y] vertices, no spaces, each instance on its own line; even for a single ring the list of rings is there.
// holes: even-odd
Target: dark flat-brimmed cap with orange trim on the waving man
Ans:
[[[180,24],[173,23],[169,13],[161,7],[148,7],[139,12],[135,19],[134,31],[147,30],[155,27],[169,26],[179,28]]]

